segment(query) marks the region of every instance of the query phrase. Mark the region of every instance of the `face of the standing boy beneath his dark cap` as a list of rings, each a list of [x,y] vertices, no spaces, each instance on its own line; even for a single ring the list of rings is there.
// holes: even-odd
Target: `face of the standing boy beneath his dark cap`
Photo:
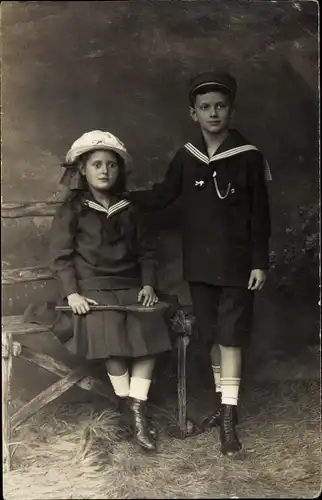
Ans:
[[[190,107],[193,121],[198,122],[203,131],[220,134],[228,130],[233,114],[229,96],[222,92],[208,92],[196,96],[194,107]]]

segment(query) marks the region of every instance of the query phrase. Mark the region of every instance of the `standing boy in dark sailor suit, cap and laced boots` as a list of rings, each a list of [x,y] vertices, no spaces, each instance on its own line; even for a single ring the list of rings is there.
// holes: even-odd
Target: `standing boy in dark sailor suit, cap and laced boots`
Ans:
[[[183,198],[184,278],[197,327],[210,351],[217,411],[205,425],[220,426],[221,452],[241,449],[236,432],[241,349],[250,339],[254,291],[269,266],[269,167],[234,129],[237,83],[209,71],[190,84],[190,115],[199,134],[175,154],[165,179],[125,197],[150,209]],[[220,401],[219,400],[220,397]]]

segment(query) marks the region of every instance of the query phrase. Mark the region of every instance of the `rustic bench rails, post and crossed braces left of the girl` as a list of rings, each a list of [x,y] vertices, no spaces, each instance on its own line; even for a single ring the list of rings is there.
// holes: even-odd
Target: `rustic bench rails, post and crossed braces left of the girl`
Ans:
[[[59,205],[59,202],[5,203],[1,206],[1,218],[51,217],[55,214]],[[48,266],[2,269],[2,285],[15,285],[17,283],[52,278]],[[11,468],[10,438],[12,430],[19,427],[29,417],[57,399],[69,388],[77,385],[82,389],[106,397],[112,405],[116,403],[114,394],[108,390],[108,386],[86,373],[83,368],[72,369],[61,361],[26,347],[21,341],[22,335],[44,333],[48,333],[48,328],[37,324],[24,323],[22,316],[2,316],[2,436],[5,471],[9,471]],[[19,357],[36,364],[38,367],[57,375],[59,380],[10,417],[9,405],[11,401],[13,357]]]

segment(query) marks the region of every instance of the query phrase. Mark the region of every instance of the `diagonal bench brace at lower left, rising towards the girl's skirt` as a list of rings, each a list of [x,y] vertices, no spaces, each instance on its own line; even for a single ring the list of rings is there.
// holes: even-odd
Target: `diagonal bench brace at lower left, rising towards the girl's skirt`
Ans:
[[[16,427],[21,425],[34,413],[39,411],[51,401],[57,399],[59,396],[61,396],[61,394],[70,389],[70,387],[77,384],[77,382],[79,382],[79,380],[81,380],[83,377],[83,369],[76,368],[64,378],[48,387],[48,389],[45,389],[43,392],[38,394],[11,417],[11,429],[15,429]]]

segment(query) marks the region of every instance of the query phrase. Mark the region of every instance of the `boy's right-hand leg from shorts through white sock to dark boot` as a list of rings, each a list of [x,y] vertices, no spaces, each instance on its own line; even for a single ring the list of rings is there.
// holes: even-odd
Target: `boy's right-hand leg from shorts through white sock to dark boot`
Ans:
[[[235,425],[241,377],[241,347],[247,343],[251,333],[253,292],[242,288],[223,288],[218,313],[222,394],[221,451],[224,454],[234,454],[241,449]]]

